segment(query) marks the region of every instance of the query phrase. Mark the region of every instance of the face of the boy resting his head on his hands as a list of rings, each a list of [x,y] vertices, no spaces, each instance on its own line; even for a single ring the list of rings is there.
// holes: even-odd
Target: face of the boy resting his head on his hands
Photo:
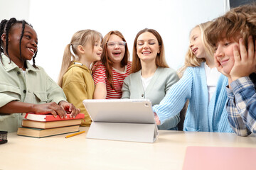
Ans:
[[[226,74],[230,74],[231,69],[235,63],[233,49],[237,45],[239,47],[239,43],[235,40],[227,40],[223,39],[216,43],[215,45],[215,54],[214,57],[220,62],[223,67],[223,71]]]

